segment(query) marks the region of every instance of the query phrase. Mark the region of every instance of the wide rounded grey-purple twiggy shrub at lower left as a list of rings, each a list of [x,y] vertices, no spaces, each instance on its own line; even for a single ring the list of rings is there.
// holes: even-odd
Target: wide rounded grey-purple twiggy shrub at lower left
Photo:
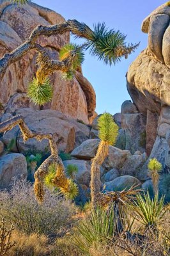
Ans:
[[[73,205],[46,190],[44,202],[38,204],[31,184],[15,182],[10,192],[0,193],[0,215],[25,234],[63,236],[72,224]]]

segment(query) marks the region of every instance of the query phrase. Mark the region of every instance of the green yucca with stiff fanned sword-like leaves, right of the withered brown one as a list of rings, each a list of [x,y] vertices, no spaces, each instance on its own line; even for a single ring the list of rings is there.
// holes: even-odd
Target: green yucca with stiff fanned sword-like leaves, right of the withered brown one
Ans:
[[[134,211],[137,213],[135,218],[142,223],[144,230],[157,232],[158,225],[163,221],[163,217],[167,212],[164,207],[164,196],[158,199],[158,194],[154,198],[150,197],[150,193],[137,195],[134,201]]]

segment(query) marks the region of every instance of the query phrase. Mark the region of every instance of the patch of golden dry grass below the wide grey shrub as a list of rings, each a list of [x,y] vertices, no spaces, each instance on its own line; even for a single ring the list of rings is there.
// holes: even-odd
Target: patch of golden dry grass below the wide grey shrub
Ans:
[[[14,232],[12,241],[16,241],[13,248],[10,249],[10,256],[47,256],[54,255],[54,245],[49,244],[49,239],[45,235]]]

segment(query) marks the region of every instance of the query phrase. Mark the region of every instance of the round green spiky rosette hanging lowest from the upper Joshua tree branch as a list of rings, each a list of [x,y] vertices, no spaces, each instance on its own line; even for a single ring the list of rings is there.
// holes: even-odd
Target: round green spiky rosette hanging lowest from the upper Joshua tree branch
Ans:
[[[39,105],[50,102],[52,100],[52,94],[52,85],[50,84],[49,77],[45,77],[42,84],[39,83],[36,77],[33,77],[27,88],[27,95],[31,101]]]

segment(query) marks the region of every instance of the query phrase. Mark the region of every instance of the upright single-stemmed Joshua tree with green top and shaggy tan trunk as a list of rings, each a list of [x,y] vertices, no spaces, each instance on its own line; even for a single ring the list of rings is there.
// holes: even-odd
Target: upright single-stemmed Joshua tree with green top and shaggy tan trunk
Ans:
[[[118,125],[115,124],[112,115],[104,113],[98,118],[98,131],[100,143],[98,145],[97,154],[92,159],[91,163],[91,203],[93,208],[96,207],[98,202],[98,195],[100,193],[100,165],[104,162],[109,154],[109,145],[116,143],[118,136]]]

